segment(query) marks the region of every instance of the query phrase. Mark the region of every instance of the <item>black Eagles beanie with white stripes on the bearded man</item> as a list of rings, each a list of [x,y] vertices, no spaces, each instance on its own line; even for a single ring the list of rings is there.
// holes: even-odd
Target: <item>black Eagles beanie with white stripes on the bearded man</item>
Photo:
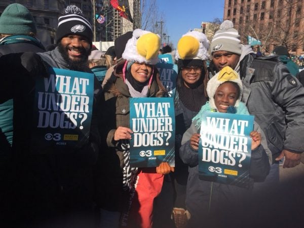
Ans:
[[[68,6],[65,9],[65,15],[58,18],[58,28],[56,31],[56,43],[58,43],[62,37],[68,34],[77,34],[85,36],[89,39],[92,45],[93,30],[90,22],[84,18],[82,10],[77,6]]]

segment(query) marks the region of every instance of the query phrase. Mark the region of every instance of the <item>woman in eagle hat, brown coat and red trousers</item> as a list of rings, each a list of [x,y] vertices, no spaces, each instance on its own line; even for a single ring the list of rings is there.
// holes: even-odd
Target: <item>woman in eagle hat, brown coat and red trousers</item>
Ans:
[[[101,208],[100,227],[152,227],[153,203],[160,194],[164,174],[174,171],[168,163],[156,168],[130,168],[130,97],[162,97],[167,93],[155,67],[160,37],[135,29],[104,85],[100,132],[104,153],[96,172],[97,202]],[[139,203],[140,202],[140,203]],[[106,223],[110,215],[111,219]]]

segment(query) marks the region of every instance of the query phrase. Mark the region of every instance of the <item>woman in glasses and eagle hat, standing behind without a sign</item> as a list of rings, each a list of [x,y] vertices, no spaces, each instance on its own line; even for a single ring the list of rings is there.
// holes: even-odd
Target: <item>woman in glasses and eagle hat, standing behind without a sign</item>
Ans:
[[[208,70],[206,60],[209,41],[204,33],[191,31],[185,33],[177,43],[175,59],[178,76],[175,95],[175,172],[170,174],[174,183],[175,200],[171,209],[177,228],[186,227],[190,218],[185,207],[188,166],[179,157],[179,148],[183,133],[190,127],[192,118],[207,101],[206,86]]]

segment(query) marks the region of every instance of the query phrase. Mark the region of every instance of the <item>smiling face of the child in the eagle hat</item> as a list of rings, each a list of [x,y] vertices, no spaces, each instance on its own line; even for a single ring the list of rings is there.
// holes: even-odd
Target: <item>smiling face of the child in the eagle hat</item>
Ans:
[[[235,84],[225,82],[221,84],[214,95],[214,103],[219,112],[227,112],[229,106],[235,106],[239,91]]]

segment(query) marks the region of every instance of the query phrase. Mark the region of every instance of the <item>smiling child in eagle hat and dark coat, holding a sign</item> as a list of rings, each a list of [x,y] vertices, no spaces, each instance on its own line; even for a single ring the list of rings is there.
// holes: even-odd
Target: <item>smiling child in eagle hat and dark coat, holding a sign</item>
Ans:
[[[249,115],[245,104],[241,102],[242,91],[243,85],[239,74],[229,66],[221,69],[208,82],[209,101],[201,107],[199,113],[193,118],[191,127],[183,134],[179,151],[181,160],[189,165],[186,208],[191,214],[191,219],[188,228],[231,227],[233,224],[237,224],[235,217],[231,215],[238,214],[238,211],[246,209],[244,206],[251,205],[246,205],[245,202],[251,197],[253,182],[263,181],[269,173],[271,151],[267,147],[263,132],[255,123],[254,130],[250,133],[252,138],[250,187],[199,179],[198,148],[203,115],[206,112]]]

